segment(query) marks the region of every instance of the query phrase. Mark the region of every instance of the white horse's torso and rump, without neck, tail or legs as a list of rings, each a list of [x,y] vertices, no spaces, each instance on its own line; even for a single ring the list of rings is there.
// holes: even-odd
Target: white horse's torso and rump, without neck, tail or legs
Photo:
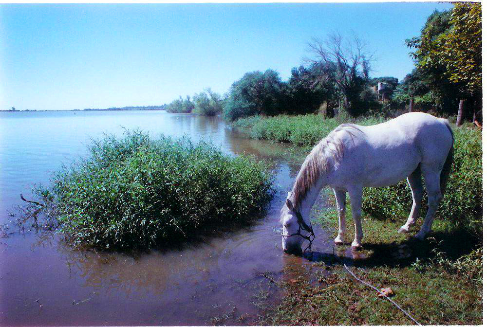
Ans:
[[[423,112],[353,129],[361,132],[340,133],[347,145],[341,170],[353,172],[364,186],[392,185],[408,177],[420,163],[441,169],[452,141],[448,122]]]

